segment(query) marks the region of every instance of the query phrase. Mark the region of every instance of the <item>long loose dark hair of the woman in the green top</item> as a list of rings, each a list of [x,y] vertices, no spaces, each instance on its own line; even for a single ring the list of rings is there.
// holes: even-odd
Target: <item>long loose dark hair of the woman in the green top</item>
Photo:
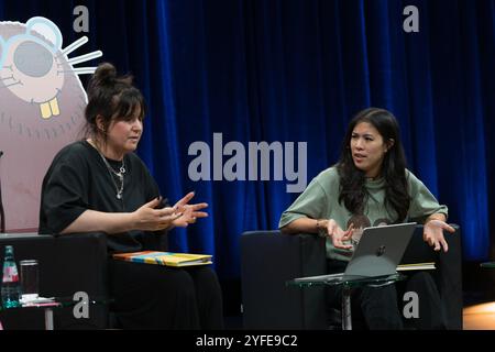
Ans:
[[[351,138],[354,128],[360,122],[369,122],[382,135],[384,143],[394,140],[394,144],[384,155],[380,176],[385,180],[385,207],[392,207],[398,215],[395,222],[402,222],[407,217],[410,197],[407,193],[406,156],[400,131],[395,117],[387,110],[369,108],[358,112],[349,123],[342,143],[337,169],[340,176],[339,202],[352,213],[363,213],[366,198],[365,174],[354,165],[351,152]],[[393,220],[393,219],[391,219]]]

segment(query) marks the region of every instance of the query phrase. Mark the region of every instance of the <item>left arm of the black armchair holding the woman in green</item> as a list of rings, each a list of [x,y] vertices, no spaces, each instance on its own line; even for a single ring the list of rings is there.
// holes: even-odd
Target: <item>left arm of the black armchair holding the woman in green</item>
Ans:
[[[250,231],[241,235],[245,329],[324,329],[323,287],[286,286],[327,271],[324,239],[314,234]]]

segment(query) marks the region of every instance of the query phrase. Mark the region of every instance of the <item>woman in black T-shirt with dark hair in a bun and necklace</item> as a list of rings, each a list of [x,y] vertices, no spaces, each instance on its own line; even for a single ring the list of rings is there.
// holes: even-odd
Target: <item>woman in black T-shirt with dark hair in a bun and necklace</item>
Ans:
[[[132,77],[98,66],[88,85],[86,138],[55,156],[43,180],[40,233],[105,232],[113,253],[166,250],[166,233],[187,227],[208,205],[164,205],[158,186],[133,152],[145,103]],[[161,248],[157,248],[162,245]],[[151,248],[153,246],[153,248]],[[213,271],[169,268],[109,258],[113,311],[123,329],[220,329],[222,297]]]

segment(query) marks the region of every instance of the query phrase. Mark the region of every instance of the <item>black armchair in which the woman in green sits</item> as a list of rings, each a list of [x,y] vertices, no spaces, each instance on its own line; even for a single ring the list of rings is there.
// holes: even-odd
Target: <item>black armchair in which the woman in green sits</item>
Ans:
[[[462,329],[461,232],[446,233],[449,251],[435,252],[418,226],[403,264],[436,262],[432,272],[444,305],[448,329]],[[245,329],[329,329],[322,287],[287,287],[286,280],[326,274],[324,240],[314,234],[250,231],[241,237],[241,278]]]

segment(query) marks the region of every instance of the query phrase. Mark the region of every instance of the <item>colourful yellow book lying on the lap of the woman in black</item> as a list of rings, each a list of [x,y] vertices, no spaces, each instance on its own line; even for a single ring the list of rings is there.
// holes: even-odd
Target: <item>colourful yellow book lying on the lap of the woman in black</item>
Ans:
[[[132,253],[117,253],[113,258],[127,262],[166,265],[174,267],[212,264],[210,254],[174,253],[158,251],[141,251]]]

